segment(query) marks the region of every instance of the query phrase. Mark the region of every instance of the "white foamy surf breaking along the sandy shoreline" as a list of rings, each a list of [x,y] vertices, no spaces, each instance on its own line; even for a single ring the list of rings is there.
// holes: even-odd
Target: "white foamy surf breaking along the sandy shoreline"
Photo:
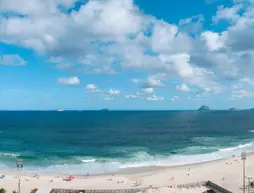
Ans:
[[[29,171],[42,171],[49,173],[71,173],[71,174],[102,174],[116,172],[119,169],[139,168],[149,166],[179,166],[185,164],[194,164],[207,161],[231,157],[232,155],[240,155],[242,151],[253,152],[254,142],[239,144],[228,148],[217,149],[211,153],[201,154],[199,150],[209,150],[210,146],[194,146],[184,148],[175,155],[152,155],[146,151],[138,151],[130,154],[126,158],[95,158],[95,157],[75,157],[79,162],[69,162],[65,164],[56,163],[51,166],[37,167],[27,166]],[[211,147],[212,148],[212,147]],[[193,154],[196,153],[196,154]],[[13,153],[0,153],[5,156],[18,156]]]

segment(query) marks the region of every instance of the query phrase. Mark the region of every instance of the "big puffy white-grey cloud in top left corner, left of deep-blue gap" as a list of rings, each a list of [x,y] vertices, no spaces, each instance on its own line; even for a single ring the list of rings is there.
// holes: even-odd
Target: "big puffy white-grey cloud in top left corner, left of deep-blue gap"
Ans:
[[[81,4],[78,10],[70,9],[74,3],[71,0],[32,3],[1,0],[1,12],[13,12],[17,16],[0,18],[3,29],[0,38],[50,56],[82,56],[96,51],[96,44],[91,42],[99,37],[102,41],[121,41],[145,25],[132,0],[93,0]],[[63,11],[63,7],[71,12]]]

